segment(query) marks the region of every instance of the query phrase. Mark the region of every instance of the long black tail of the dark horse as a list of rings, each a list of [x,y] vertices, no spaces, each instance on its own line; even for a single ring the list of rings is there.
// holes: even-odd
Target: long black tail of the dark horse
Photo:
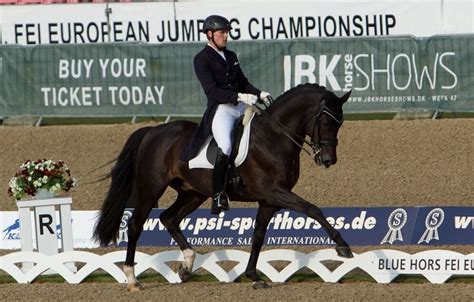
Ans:
[[[109,174],[112,183],[94,229],[94,238],[102,246],[117,238],[123,211],[132,191],[133,168],[138,147],[151,128],[140,128],[130,135]]]

